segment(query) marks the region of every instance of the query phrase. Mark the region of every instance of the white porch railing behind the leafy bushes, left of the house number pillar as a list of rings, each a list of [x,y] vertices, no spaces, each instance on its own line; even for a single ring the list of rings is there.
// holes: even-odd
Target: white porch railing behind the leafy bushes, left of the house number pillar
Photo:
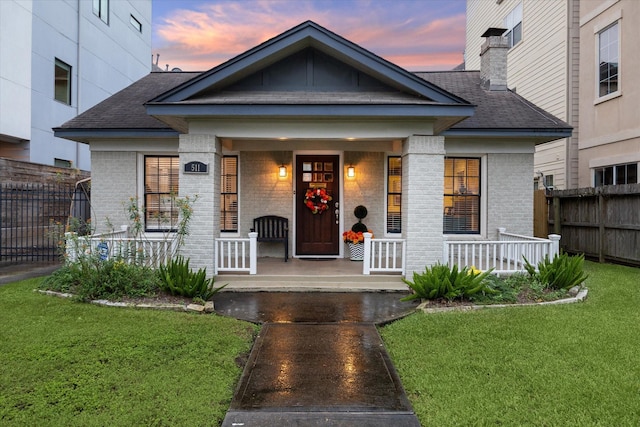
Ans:
[[[65,233],[65,241],[66,259],[69,262],[94,254],[102,260],[118,257],[127,263],[157,268],[170,261],[177,249],[173,233],[157,237],[129,237],[127,226],[122,226],[119,231],[91,236]]]

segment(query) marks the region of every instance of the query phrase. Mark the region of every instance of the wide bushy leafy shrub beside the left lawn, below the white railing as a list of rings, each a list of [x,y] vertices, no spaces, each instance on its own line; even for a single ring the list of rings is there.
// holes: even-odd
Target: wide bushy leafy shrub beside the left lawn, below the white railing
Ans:
[[[121,258],[100,260],[97,256],[65,264],[47,277],[41,287],[73,293],[82,301],[153,296],[159,289],[151,268],[128,264]]]

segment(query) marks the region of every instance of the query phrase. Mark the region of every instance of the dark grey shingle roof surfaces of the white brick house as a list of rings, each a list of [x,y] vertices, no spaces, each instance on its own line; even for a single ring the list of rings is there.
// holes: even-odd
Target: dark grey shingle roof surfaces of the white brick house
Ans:
[[[167,124],[149,116],[145,109],[145,103],[194,77],[198,77],[200,74],[200,72],[150,73],[56,128],[56,134],[72,137],[71,134],[74,131],[84,131],[84,138],[86,133],[91,130],[172,130]],[[566,131],[571,129],[562,120],[536,107],[514,92],[482,89],[478,71],[426,72],[416,73],[416,75],[477,106],[472,117],[454,125],[452,130],[522,129],[549,131],[555,129]],[[433,103],[400,92],[226,92],[220,96],[212,97],[208,101],[254,105],[261,102],[277,104],[335,103],[336,105],[341,103],[359,105]],[[203,99],[198,99],[197,102],[201,103]]]

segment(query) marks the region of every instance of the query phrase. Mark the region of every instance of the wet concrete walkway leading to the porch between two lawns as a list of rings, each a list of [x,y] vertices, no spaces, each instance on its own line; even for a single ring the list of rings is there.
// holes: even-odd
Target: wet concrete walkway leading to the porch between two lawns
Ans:
[[[231,426],[420,426],[376,324],[415,310],[398,292],[222,292],[216,311],[263,323]]]

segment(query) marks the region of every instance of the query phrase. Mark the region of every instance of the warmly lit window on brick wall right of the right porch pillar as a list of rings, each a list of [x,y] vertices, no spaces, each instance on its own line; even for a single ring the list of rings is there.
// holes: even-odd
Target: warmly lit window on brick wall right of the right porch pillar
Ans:
[[[480,159],[444,160],[445,234],[480,233]]]

